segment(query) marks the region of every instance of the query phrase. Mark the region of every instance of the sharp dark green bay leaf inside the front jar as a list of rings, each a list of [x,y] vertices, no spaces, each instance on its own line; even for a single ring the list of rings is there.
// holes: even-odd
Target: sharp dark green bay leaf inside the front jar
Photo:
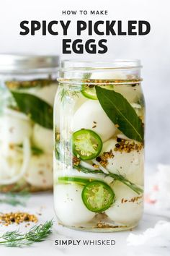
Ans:
[[[114,90],[96,86],[97,98],[109,119],[130,139],[143,142],[144,132],[141,119],[128,101]]]

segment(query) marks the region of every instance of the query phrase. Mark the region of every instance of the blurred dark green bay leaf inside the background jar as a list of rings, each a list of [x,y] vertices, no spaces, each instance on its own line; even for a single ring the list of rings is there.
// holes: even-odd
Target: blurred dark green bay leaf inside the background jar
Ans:
[[[18,93],[11,90],[19,110],[30,116],[32,121],[42,127],[53,129],[53,107],[42,99],[29,93]]]

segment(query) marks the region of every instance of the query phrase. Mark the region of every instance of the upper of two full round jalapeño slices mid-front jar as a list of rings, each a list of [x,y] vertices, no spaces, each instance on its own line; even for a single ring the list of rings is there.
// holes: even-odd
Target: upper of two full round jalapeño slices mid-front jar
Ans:
[[[102,140],[91,129],[80,129],[73,133],[73,154],[81,160],[96,158],[102,150]]]

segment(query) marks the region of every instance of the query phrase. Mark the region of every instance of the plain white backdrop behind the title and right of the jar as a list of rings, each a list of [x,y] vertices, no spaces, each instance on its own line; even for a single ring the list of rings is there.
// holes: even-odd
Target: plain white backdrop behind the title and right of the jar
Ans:
[[[169,0],[30,0],[0,1],[0,52],[20,54],[61,54],[59,35],[19,35],[22,20],[71,20],[68,38],[76,39],[76,20],[148,20],[151,33],[146,36],[109,36],[107,54],[65,55],[63,59],[141,59],[143,91],[146,96],[146,162],[170,163],[170,16]],[[108,10],[107,16],[62,15],[62,10]],[[59,28],[59,26],[58,26]],[[84,33],[81,37],[86,40]],[[95,38],[93,35],[92,38]],[[101,37],[102,38],[102,37]],[[98,38],[99,39],[99,38]]]

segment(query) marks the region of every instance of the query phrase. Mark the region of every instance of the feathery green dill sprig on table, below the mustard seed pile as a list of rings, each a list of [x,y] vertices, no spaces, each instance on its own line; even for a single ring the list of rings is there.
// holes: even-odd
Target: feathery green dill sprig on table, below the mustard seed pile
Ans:
[[[52,233],[53,221],[46,221],[44,224],[32,226],[30,231],[22,234],[19,230],[6,231],[0,238],[0,245],[6,247],[24,247],[34,242],[42,242]]]

